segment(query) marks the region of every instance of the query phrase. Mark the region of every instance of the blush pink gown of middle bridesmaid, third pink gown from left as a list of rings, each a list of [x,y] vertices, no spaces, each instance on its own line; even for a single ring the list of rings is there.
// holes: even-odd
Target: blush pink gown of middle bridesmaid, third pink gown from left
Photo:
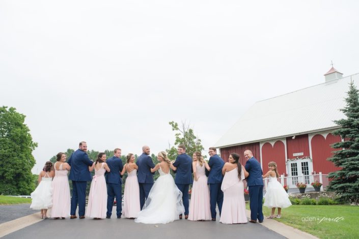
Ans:
[[[137,169],[133,169],[131,172],[127,171],[122,213],[125,218],[137,218],[140,211],[140,187]]]

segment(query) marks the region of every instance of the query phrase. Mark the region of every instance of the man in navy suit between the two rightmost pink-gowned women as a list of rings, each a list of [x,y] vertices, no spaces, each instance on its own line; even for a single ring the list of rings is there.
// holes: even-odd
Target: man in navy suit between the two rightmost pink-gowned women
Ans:
[[[212,221],[215,221],[217,216],[215,211],[216,204],[218,205],[219,216],[222,212],[223,192],[220,190],[220,187],[223,181],[222,168],[225,165],[225,161],[217,155],[215,147],[210,147],[208,153],[210,156],[208,165],[211,170],[208,171],[206,169],[206,175],[208,176],[207,183],[209,184]]]

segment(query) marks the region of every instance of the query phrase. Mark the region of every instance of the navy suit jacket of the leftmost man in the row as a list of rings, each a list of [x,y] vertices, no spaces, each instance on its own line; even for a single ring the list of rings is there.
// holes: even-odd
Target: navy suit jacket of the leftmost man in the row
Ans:
[[[92,166],[92,162],[86,152],[76,150],[70,156],[67,163],[71,166],[69,180],[72,181],[91,181],[92,176],[89,171],[89,166]]]

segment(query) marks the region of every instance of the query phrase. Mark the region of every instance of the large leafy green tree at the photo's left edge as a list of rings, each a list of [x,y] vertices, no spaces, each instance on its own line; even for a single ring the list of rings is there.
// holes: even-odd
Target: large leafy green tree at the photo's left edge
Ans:
[[[24,121],[15,108],[0,107],[0,194],[29,195],[35,188],[31,169],[37,143]]]

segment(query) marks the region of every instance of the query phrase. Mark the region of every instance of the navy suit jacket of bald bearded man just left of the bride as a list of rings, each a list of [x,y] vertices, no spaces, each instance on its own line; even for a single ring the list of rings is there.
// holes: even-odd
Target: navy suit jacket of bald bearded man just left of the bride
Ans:
[[[139,180],[139,183],[153,184],[153,173],[151,172],[151,168],[154,168],[155,165],[151,156],[143,153],[137,158],[136,164],[139,166],[139,169],[137,170],[137,180]]]

